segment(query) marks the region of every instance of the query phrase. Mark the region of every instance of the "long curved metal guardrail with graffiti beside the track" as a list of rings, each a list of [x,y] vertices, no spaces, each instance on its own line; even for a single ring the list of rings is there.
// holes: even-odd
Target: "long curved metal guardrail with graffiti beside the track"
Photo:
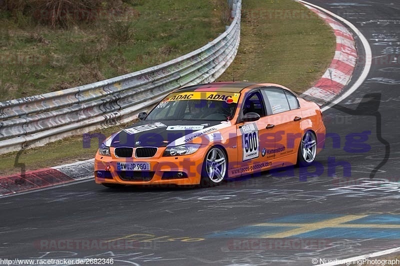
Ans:
[[[229,27],[193,52],[123,76],[0,102],[0,154],[127,122],[173,89],[214,81],[233,61],[240,40],[241,0],[228,2]]]

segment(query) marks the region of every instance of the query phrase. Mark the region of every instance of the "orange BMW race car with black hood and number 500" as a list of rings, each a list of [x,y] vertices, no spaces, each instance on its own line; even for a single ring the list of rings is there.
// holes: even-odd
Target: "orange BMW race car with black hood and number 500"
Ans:
[[[138,117],[101,144],[96,183],[217,185],[272,168],[308,166],[325,141],[319,107],[277,84],[187,86]]]

